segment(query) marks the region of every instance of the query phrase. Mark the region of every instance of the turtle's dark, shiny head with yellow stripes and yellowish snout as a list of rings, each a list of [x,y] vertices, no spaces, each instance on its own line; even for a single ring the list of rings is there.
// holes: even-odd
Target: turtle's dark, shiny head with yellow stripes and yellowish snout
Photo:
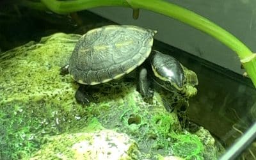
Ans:
[[[151,67],[150,77],[154,83],[169,92],[184,93],[187,97],[196,94],[194,86],[198,85],[198,77],[176,58],[154,50],[148,59]]]

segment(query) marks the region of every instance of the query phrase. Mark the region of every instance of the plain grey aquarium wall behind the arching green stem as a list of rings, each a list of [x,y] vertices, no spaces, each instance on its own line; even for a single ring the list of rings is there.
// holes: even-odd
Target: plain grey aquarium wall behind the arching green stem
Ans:
[[[168,0],[168,2],[202,15],[232,33],[252,51],[256,49],[254,45],[256,39],[253,36],[255,33],[254,19],[256,16],[254,11],[255,1]],[[240,68],[239,58],[228,47],[221,44],[215,38],[178,20],[170,19],[167,16],[148,10],[140,10],[140,18],[134,20],[131,19],[131,8],[102,7],[92,8],[91,11],[120,24],[135,24],[157,29],[161,32],[156,35],[156,39],[161,42],[239,74],[244,72]]]

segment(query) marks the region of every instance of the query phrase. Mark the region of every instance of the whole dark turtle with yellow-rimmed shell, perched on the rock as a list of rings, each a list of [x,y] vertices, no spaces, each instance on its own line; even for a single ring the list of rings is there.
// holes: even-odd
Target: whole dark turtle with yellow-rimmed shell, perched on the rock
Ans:
[[[78,40],[69,65],[63,67],[62,72],[68,69],[77,83],[86,85],[107,83],[123,77],[148,59],[155,34],[156,31],[137,26],[110,25],[92,29]],[[158,78],[156,82],[162,81],[159,84],[169,90],[173,86],[182,90],[186,76],[179,61],[172,59],[172,56],[153,51],[150,64]],[[147,69],[141,67],[138,90],[141,95],[150,98],[153,92],[147,78]],[[84,92],[77,90],[77,101],[88,102],[86,93],[81,91]]]

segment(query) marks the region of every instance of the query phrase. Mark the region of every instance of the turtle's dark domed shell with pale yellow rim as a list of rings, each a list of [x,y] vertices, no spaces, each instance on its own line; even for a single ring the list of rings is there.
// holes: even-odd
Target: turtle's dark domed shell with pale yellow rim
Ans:
[[[149,56],[156,31],[110,25],[92,29],[78,40],[68,71],[81,84],[95,85],[128,74]]]

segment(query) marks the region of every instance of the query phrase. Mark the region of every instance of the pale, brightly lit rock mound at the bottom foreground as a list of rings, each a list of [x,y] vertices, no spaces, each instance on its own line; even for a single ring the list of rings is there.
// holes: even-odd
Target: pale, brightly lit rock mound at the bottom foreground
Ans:
[[[95,120],[94,120],[95,121]],[[96,120],[97,121],[97,120]],[[95,123],[95,122],[92,122]],[[109,129],[60,134],[49,138],[32,159],[138,159],[140,152],[127,134]]]

